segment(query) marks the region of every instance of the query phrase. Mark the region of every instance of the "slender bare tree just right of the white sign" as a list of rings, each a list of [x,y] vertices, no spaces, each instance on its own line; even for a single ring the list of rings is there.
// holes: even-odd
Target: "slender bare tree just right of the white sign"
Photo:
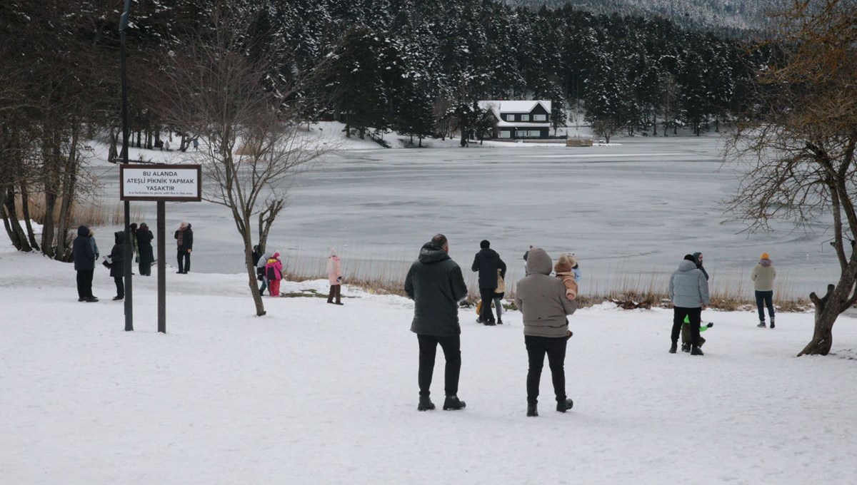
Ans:
[[[248,285],[257,316],[265,315],[253,264],[253,223],[264,245],[285,207],[292,177],[335,149],[309,138],[300,126],[295,96],[309,78],[285,78],[273,50],[261,48],[255,12],[241,3],[221,2],[209,13],[212,28],[171,52],[165,80],[165,120],[198,136],[194,156],[206,176],[203,198],[229,208],[244,244]],[[304,73],[312,75],[312,73]]]

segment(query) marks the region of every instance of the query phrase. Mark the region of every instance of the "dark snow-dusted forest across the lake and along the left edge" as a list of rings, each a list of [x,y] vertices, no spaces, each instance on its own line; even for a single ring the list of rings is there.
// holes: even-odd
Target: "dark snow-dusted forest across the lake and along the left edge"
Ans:
[[[75,204],[85,202],[90,140],[120,141],[119,0],[7,0],[0,3],[0,208],[22,251],[68,255]],[[599,133],[666,135],[680,126],[717,129],[757,102],[740,39],[687,30],[671,21],[593,15],[571,7],[513,8],[497,0],[141,0],[129,44],[131,145],[165,140],[186,150],[196,137],[171,122],[160,95],[165,69],[214,38],[205,15],[227,5],[252,26],[250,58],[276,59],[265,74],[296,120],[338,119],[348,136],[381,140],[394,130],[417,144],[487,127],[481,99],[549,99],[554,128],[581,107]],[[194,40],[197,39],[197,40]],[[201,39],[201,40],[200,40]],[[309,75],[310,73],[311,75]],[[296,80],[302,80],[296,83]],[[40,240],[23,211],[38,199]],[[21,204],[21,201],[25,202]],[[17,204],[16,204],[17,202]],[[23,221],[23,223],[21,223]]]

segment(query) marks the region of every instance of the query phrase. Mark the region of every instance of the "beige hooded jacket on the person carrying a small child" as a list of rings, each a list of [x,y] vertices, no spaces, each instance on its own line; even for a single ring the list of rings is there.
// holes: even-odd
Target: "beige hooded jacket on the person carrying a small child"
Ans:
[[[566,315],[577,311],[578,304],[566,298],[562,280],[550,275],[553,261],[542,248],[530,249],[526,269],[515,290],[515,305],[524,315],[524,335],[565,338]]]

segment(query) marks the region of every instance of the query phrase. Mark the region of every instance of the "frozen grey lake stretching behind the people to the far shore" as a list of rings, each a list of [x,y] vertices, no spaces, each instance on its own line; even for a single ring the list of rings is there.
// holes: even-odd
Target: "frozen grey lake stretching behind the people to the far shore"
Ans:
[[[635,281],[665,284],[693,251],[704,253],[715,291],[718,284],[741,285],[752,294],[748,275],[764,251],[777,268],[780,293],[806,296],[836,282],[827,224],[818,223],[812,234],[791,223],[770,234],[746,234],[742,222],[723,212],[737,174],[722,165],[718,139],[615,141],[620,145],[341,151],[295,180],[268,249],[282,252],[297,272],[321,274],[334,246],[346,278],[404,277],[420,246],[440,232],[470,283],[482,239],[509,264],[510,281],[523,276],[529,245],[554,258],[576,253],[586,293]],[[105,198],[117,200],[118,169],[98,170]],[[132,207],[154,228],[154,203]],[[175,265],[172,231],[181,221],[193,224],[194,271],[242,270],[231,214],[210,203],[167,204],[167,263]]]

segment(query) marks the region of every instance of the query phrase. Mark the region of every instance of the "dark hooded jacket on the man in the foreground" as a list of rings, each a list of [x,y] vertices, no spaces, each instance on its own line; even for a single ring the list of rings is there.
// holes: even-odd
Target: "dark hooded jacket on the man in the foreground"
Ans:
[[[461,334],[458,302],[467,296],[461,268],[440,245],[428,242],[405,277],[405,293],[414,300],[411,332],[452,337]]]

